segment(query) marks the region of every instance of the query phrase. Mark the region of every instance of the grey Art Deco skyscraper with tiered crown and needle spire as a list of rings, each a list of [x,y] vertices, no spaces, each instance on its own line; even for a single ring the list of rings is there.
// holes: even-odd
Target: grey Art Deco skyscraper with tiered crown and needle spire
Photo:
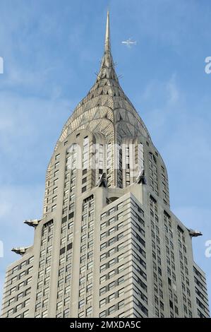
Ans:
[[[167,169],[123,93],[109,13],[95,84],[49,162],[31,247],[8,266],[1,317],[208,317],[205,274],[171,212]]]

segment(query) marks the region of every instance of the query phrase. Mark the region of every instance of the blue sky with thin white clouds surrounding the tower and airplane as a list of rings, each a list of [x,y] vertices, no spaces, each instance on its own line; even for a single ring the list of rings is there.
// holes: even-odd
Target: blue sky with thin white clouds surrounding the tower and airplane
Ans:
[[[171,210],[203,232],[193,250],[211,301],[210,0],[1,0],[0,289],[11,248],[32,244],[23,220],[42,215],[64,122],[95,81],[108,5],[116,71],[166,162]],[[130,37],[136,46],[121,44]]]

